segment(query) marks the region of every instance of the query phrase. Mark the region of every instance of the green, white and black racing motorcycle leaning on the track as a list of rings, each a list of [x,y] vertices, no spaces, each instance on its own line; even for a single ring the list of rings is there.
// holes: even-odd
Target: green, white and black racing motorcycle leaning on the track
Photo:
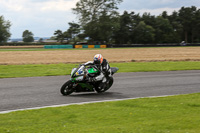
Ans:
[[[119,69],[117,67],[111,67],[111,75],[116,73]],[[73,92],[105,92],[113,84],[112,76],[105,76],[101,81],[90,81],[89,79],[100,74],[97,66],[85,66],[79,64],[77,68],[73,68],[71,71],[71,78],[63,84],[60,89],[62,95],[70,95]]]

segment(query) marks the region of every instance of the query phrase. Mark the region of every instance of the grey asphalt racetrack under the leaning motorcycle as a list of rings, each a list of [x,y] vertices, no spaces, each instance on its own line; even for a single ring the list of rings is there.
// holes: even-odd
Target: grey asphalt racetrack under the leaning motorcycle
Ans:
[[[117,73],[113,86],[105,93],[72,93],[63,96],[60,87],[69,78],[48,76],[0,79],[0,112],[70,103],[200,93],[200,70]]]

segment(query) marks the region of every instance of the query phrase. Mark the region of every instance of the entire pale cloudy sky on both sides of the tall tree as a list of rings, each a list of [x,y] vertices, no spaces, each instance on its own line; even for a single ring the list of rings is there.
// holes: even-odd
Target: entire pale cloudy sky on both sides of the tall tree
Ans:
[[[0,0],[0,16],[12,24],[11,38],[21,38],[24,30],[34,37],[51,37],[54,31],[66,31],[68,22],[76,21],[71,8],[79,0]],[[162,11],[171,14],[182,6],[200,8],[200,0],[123,0],[119,12],[150,12],[159,15]]]

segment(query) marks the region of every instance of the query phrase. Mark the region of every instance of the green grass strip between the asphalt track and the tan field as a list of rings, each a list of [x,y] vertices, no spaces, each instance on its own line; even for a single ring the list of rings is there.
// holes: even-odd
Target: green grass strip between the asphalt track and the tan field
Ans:
[[[78,64],[0,65],[0,78],[57,76],[70,74]],[[130,62],[111,63],[118,72],[200,70],[200,62]]]

